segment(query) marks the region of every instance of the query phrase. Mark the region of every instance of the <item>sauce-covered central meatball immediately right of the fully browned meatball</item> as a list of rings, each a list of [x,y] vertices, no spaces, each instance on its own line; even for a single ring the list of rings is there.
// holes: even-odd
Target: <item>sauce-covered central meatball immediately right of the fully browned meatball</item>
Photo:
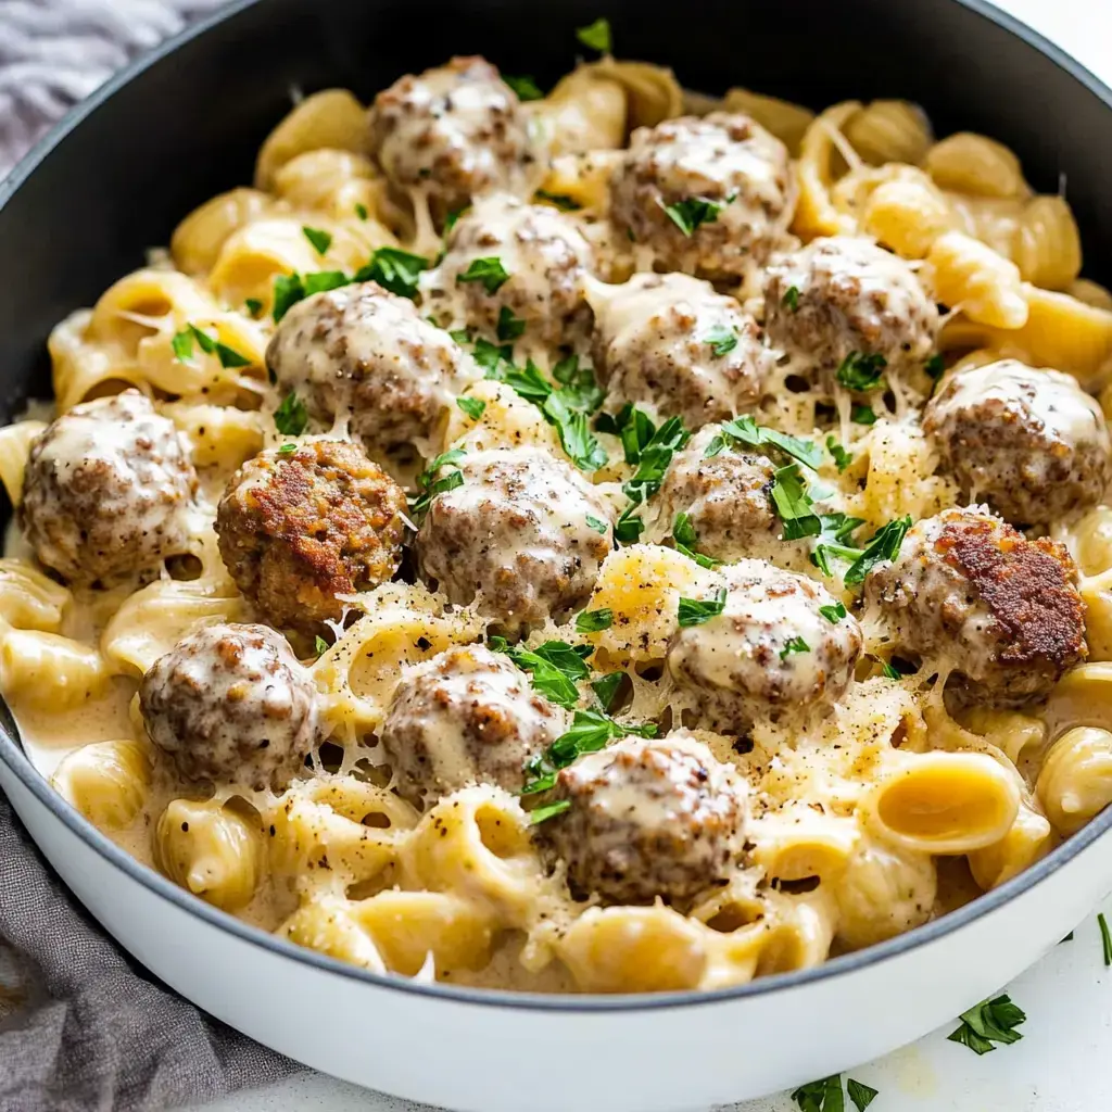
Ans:
[[[613,547],[612,510],[570,465],[538,448],[479,451],[438,494],[417,533],[417,566],[453,603],[515,631],[587,600]]]

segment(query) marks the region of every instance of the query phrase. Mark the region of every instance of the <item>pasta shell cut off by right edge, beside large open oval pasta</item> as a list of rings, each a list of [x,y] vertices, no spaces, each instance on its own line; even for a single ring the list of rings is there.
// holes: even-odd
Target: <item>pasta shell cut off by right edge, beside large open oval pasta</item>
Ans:
[[[1036,791],[1055,830],[1081,830],[1112,803],[1112,733],[1079,726],[1063,734],[1043,762]]]

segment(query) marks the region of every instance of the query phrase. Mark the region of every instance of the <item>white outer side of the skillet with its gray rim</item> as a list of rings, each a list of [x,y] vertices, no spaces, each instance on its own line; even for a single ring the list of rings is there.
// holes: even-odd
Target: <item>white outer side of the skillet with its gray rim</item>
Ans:
[[[202,904],[93,830],[2,735],[0,787],[89,911],[183,996],[306,1065],[467,1112],[526,1099],[537,1112],[675,1112],[840,1072],[995,992],[1112,876],[1110,810],[976,903],[816,970],[702,995],[480,993],[374,976]]]

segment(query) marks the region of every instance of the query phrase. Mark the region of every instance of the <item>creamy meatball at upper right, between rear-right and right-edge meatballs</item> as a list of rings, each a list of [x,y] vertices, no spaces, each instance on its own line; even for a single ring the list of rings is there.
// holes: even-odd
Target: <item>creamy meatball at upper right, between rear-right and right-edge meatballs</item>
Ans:
[[[804,358],[827,390],[851,356],[901,375],[934,349],[937,306],[903,259],[868,239],[832,236],[781,256],[764,295],[770,342]]]

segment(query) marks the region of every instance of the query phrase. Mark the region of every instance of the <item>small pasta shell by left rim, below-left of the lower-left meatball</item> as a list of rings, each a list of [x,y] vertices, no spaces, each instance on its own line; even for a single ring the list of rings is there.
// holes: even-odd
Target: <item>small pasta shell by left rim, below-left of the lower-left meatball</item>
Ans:
[[[123,830],[150,791],[150,757],[136,742],[93,742],[69,754],[50,785],[95,826]]]

